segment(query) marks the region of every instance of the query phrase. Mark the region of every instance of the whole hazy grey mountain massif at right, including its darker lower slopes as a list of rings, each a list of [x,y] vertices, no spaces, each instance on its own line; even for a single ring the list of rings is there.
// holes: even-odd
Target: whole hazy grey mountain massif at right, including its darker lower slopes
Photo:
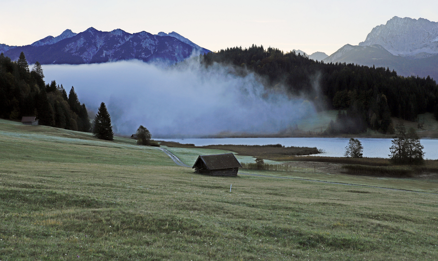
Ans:
[[[364,42],[346,44],[322,61],[389,67],[399,75],[438,79],[438,22],[395,16],[374,27]]]

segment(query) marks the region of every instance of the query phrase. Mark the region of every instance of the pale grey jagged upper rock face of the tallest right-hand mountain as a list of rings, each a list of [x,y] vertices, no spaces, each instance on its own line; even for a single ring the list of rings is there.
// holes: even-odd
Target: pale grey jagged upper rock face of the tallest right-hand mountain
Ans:
[[[438,22],[394,16],[374,27],[360,46],[379,44],[394,55],[438,54]]]

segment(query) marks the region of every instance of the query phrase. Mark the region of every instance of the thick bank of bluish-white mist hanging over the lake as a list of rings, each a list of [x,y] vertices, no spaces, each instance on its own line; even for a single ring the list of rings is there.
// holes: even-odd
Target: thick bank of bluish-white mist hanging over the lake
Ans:
[[[277,133],[314,114],[314,106],[288,97],[281,87],[264,89],[254,73],[208,68],[191,60],[173,67],[120,61],[44,65],[46,82],[56,79],[97,111],[105,102],[114,132],[130,135],[139,125],[154,137],[202,136],[220,132]]]

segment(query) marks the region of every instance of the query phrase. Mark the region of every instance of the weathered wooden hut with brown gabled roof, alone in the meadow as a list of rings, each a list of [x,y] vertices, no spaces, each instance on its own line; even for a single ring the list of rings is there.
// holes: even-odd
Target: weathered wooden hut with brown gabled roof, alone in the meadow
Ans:
[[[242,168],[234,154],[216,154],[199,156],[193,167],[196,173],[214,176],[237,176],[237,171]]]

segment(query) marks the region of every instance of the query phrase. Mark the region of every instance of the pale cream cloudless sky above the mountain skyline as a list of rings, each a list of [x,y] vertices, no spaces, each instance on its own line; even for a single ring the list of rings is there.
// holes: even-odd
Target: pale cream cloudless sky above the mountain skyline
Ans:
[[[73,3],[73,4],[72,4]],[[65,29],[175,31],[217,51],[251,44],[330,55],[394,16],[438,21],[438,1],[5,1],[0,43],[27,45]]]

